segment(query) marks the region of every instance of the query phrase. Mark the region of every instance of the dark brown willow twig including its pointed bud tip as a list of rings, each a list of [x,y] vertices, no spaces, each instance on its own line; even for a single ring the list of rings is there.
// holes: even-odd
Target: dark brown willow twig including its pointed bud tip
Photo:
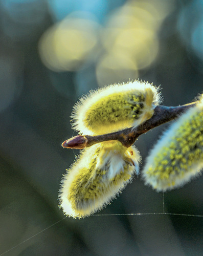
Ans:
[[[62,146],[67,148],[82,149],[99,142],[118,140],[124,146],[129,147],[138,139],[140,135],[148,132],[154,127],[176,119],[183,112],[194,106],[197,102],[198,101],[195,101],[181,106],[156,106],[153,116],[141,125],[137,126],[136,129],[132,130],[132,127],[130,127],[118,132],[98,136],[78,135],[71,139],[65,140],[62,143]]]

